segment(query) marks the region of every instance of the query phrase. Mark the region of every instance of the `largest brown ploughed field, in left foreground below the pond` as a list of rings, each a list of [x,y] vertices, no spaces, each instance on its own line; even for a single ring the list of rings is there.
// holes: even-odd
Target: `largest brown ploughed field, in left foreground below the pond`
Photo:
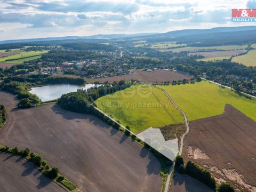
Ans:
[[[54,104],[9,111],[0,143],[28,147],[82,191],[159,191],[160,164],[97,117]]]

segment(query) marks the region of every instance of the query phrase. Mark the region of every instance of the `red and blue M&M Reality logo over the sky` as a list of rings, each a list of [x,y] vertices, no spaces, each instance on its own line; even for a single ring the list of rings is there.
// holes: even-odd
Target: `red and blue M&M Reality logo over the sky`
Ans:
[[[231,21],[256,22],[256,9],[233,9]]]

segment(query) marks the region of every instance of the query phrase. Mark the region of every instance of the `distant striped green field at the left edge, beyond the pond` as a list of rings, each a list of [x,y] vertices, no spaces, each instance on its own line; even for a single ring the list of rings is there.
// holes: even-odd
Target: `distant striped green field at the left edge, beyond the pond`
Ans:
[[[47,51],[26,51],[8,57],[0,58],[0,62],[5,63],[22,63],[23,61],[29,61],[41,57],[43,53]]]

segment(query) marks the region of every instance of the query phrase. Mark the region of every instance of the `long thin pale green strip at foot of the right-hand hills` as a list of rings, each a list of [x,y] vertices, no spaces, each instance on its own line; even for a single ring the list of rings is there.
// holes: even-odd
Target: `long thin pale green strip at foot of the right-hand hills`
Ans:
[[[247,45],[224,45],[224,46],[209,46],[209,47],[181,47],[175,49],[165,49],[161,51],[204,51],[204,50],[244,50]]]

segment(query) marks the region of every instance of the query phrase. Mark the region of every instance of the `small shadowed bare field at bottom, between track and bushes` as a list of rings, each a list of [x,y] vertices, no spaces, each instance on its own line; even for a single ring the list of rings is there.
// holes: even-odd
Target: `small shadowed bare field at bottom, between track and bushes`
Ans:
[[[169,192],[213,192],[213,190],[188,175],[175,173]]]

